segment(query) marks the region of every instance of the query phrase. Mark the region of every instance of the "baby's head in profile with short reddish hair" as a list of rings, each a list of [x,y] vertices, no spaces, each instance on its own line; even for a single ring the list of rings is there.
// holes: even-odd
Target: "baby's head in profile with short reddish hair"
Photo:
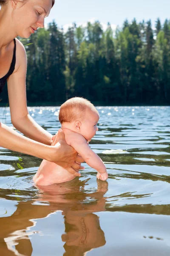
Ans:
[[[98,131],[99,113],[87,99],[75,97],[61,105],[59,122],[62,127],[75,131],[91,140]]]

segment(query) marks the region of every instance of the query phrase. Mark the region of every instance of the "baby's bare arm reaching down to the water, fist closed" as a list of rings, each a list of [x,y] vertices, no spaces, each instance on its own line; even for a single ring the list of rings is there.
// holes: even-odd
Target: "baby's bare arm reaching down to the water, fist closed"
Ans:
[[[76,140],[72,140],[71,144],[85,162],[98,172],[97,178],[107,180],[108,173],[102,159],[91,150],[85,138],[79,135]]]

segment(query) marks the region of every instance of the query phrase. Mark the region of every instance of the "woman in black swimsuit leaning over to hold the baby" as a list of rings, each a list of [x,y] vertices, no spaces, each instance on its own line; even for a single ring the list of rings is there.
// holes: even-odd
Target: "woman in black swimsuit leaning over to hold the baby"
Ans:
[[[51,146],[52,135],[40,127],[28,113],[26,104],[27,58],[23,44],[16,38],[29,38],[44,27],[44,18],[55,0],[0,0],[0,93],[7,81],[11,122],[17,133],[0,123],[0,146],[57,163],[75,176],[83,162],[59,132],[59,143]],[[14,39],[15,38],[15,39]]]

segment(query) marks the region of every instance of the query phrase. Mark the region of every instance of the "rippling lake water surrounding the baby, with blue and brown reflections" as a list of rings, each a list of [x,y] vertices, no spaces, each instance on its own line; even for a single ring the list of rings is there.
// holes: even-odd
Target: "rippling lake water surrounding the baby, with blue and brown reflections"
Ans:
[[[28,108],[55,134],[59,108]],[[36,187],[40,159],[0,148],[0,256],[169,256],[170,107],[97,107],[87,164],[68,183]],[[11,126],[9,108],[0,122]]]

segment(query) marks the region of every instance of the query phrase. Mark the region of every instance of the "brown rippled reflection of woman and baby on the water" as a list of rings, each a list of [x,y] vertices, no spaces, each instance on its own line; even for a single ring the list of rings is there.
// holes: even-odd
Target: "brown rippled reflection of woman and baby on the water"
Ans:
[[[31,227],[36,229],[37,219],[56,211],[62,211],[64,215],[65,233],[61,239],[65,242],[65,256],[83,256],[92,248],[103,246],[105,235],[94,212],[105,211],[104,195],[108,191],[108,183],[97,180],[96,192],[87,194],[83,191],[87,181],[39,186],[37,199],[19,202],[11,216],[0,218],[0,251],[3,255],[9,255],[10,250],[15,255],[31,256],[30,236],[37,233],[32,232]]]

